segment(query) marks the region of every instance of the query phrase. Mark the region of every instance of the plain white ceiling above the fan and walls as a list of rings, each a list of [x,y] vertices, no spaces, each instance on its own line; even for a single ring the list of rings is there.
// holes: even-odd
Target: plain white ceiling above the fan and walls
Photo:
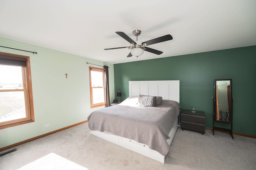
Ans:
[[[173,40],[148,46],[161,55],[104,50],[137,29]],[[244,47],[256,45],[256,0],[0,0],[0,37],[113,64]]]

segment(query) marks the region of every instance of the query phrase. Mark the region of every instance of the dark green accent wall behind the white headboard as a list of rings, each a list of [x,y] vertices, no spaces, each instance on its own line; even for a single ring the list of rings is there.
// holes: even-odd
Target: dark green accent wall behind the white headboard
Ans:
[[[233,131],[256,136],[255,73],[256,46],[120,63],[114,64],[115,94],[126,99],[128,81],[180,80],[182,109],[204,111],[212,128],[214,79],[233,79]]]

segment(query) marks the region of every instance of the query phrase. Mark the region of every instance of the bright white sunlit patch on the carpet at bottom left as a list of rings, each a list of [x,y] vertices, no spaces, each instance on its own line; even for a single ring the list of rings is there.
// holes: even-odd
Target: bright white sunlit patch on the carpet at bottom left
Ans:
[[[50,153],[18,170],[88,170],[66,158]]]

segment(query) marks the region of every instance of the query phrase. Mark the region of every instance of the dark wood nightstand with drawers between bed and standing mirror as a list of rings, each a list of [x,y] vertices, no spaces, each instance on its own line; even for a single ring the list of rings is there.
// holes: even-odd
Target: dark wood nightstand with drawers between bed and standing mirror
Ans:
[[[193,130],[196,132],[205,133],[205,115],[202,111],[192,113],[189,110],[182,110],[181,115],[181,129]]]

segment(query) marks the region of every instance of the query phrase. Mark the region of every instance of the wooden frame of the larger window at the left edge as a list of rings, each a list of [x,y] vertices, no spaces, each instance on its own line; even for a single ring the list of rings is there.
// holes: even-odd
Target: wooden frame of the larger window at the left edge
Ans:
[[[35,119],[34,119],[34,104],[33,104],[33,95],[32,95],[30,57],[24,56],[24,55],[16,55],[16,54],[0,52],[0,58],[1,57],[6,58],[6,59],[13,59],[15,57],[18,57],[21,60],[22,59],[26,60],[26,67],[21,66],[23,89],[0,90],[0,93],[8,92],[8,91],[23,91],[24,92],[26,118],[14,119],[11,121],[2,122],[2,123],[0,123],[0,129],[34,122]],[[12,64],[9,64],[9,65],[12,65]]]

